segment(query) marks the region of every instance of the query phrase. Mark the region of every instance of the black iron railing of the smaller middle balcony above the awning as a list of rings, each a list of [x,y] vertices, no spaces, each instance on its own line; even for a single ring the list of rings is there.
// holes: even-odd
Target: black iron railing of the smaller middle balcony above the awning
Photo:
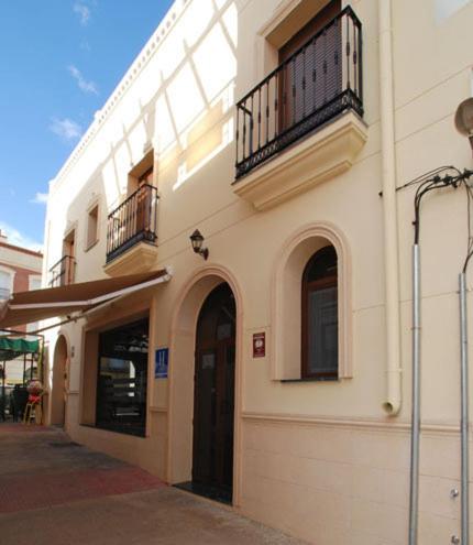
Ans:
[[[107,263],[141,241],[157,239],[157,189],[142,185],[108,217]]]

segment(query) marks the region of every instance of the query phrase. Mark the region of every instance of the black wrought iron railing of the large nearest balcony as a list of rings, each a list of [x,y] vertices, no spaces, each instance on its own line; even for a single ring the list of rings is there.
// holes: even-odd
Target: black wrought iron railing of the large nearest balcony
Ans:
[[[237,103],[237,179],[348,109],[363,116],[362,25],[350,7]]]

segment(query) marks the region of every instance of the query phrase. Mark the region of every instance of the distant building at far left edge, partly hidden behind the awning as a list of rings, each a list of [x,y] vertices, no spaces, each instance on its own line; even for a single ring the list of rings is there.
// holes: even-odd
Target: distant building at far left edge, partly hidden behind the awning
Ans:
[[[13,292],[40,290],[42,266],[41,252],[9,243],[8,237],[0,231],[0,302],[9,299]],[[14,327],[18,331],[34,331],[37,328],[37,323]],[[24,367],[23,358],[10,361],[6,366],[6,383],[22,384]]]

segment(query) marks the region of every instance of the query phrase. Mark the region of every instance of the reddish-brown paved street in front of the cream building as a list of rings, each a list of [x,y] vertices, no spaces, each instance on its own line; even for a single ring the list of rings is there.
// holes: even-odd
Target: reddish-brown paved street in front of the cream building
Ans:
[[[61,430],[0,425],[2,545],[297,545]]]

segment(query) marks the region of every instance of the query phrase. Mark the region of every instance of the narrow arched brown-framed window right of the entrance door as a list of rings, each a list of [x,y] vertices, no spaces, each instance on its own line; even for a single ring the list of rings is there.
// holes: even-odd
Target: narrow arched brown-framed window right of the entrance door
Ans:
[[[317,251],[302,275],[302,379],[339,375],[339,313],[337,252],[332,246]]]

